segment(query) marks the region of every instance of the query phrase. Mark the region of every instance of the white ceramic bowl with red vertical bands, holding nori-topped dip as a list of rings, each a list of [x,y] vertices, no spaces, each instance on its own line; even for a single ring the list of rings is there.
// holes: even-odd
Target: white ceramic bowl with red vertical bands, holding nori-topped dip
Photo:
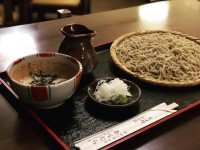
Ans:
[[[7,74],[20,100],[39,108],[54,108],[76,91],[82,65],[69,55],[37,53],[15,60]]]

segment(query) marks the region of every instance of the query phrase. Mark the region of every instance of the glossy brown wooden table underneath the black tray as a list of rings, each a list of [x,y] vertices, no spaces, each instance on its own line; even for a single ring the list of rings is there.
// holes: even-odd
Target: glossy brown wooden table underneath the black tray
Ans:
[[[0,29],[0,72],[23,55],[57,51],[60,28],[81,23],[97,31],[94,45],[108,43],[122,34],[151,29],[176,30],[200,38],[200,2],[172,0],[110,12],[71,17]],[[200,107],[161,124],[122,144],[117,149],[200,149]],[[30,118],[19,116],[0,95],[1,149],[57,149],[58,145]]]

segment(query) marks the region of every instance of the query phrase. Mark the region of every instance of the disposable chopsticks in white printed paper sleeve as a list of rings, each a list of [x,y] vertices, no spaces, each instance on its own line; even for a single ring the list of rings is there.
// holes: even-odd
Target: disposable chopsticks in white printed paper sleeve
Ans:
[[[74,144],[81,150],[87,150],[88,148],[100,149],[168,115],[171,115],[172,113],[176,112],[174,109],[178,106],[179,105],[176,103],[172,103],[170,105],[161,103],[113,127],[75,141]]]

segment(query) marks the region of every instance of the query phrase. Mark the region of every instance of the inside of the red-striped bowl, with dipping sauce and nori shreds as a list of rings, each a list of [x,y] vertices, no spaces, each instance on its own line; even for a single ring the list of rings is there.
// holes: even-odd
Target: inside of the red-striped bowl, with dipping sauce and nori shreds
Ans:
[[[72,78],[77,69],[64,63],[36,61],[21,66],[10,76],[24,85],[47,86]]]

